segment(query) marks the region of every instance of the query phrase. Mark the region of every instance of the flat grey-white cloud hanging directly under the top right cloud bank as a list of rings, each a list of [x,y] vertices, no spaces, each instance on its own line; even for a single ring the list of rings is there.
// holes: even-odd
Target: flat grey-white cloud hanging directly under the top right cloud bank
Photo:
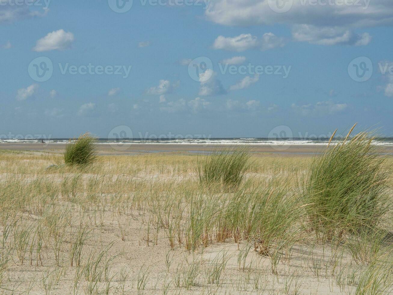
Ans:
[[[340,27],[316,27],[302,24],[293,27],[292,36],[296,41],[318,45],[367,45],[371,42],[369,33],[355,34]]]

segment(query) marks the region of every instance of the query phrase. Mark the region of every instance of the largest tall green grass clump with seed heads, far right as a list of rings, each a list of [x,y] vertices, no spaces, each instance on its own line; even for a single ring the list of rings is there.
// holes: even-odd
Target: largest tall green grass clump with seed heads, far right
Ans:
[[[391,208],[385,159],[369,133],[349,138],[355,125],[345,140],[313,159],[303,185],[309,220],[324,238],[373,230]]]

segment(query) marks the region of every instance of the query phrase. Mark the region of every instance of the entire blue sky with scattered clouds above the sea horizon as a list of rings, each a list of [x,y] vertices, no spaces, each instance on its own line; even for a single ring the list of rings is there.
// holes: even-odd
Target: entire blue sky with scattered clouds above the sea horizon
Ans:
[[[0,0],[0,137],[393,136],[391,0]]]

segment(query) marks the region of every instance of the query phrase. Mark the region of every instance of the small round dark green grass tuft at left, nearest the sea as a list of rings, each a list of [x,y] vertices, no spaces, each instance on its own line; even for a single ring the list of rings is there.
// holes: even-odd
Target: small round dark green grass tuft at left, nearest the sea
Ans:
[[[73,141],[69,140],[64,151],[64,162],[69,165],[88,166],[97,160],[96,138],[86,132]]]

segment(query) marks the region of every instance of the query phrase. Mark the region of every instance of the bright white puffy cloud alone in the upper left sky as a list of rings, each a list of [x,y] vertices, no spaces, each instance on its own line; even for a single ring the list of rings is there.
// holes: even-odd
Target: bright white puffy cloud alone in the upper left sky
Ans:
[[[71,32],[57,30],[48,33],[45,37],[39,39],[33,48],[34,51],[42,52],[49,50],[65,50],[71,48],[74,36]]]

